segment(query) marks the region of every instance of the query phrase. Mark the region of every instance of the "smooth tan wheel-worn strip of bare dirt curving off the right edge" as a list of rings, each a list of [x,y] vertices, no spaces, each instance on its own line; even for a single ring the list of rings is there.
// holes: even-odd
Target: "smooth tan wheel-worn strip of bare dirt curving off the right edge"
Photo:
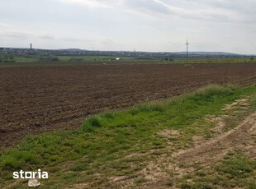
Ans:
[[[238,127],[224,132],[210,141],[197,145],[190,150],[182,150],[177,154],[182,164],[214,164],[229,151],[255,147],[255,139],[252,133],[256,131],[256,113],[244,119]],[[256,157],[255,151],[250,156]]]

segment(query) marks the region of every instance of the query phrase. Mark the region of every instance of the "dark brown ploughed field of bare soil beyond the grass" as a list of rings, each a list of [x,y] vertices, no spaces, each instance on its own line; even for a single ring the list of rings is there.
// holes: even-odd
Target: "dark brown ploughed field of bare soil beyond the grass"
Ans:
[[[0,148],[30,133],[80,127],[89,114],[202,85],[256,83],[256,64],[0,68]]]

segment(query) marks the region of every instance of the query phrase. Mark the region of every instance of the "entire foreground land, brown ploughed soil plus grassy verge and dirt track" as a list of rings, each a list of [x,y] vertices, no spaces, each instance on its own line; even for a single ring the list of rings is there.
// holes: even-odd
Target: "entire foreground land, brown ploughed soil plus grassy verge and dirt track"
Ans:
[[[256,187],[254,63],[7,65],[0,82],[2,188],[38,168],[41,188]]]

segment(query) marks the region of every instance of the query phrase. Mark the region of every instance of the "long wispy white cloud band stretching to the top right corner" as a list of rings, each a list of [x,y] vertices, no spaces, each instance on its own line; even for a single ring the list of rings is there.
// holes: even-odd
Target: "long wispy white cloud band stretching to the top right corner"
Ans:
[[[254,21],[256,1],[245,0],[59,0],[85,7],[115,8],[144,16],[176,16],[211,21]],[[253,14],[249,14],[249,12]]]

